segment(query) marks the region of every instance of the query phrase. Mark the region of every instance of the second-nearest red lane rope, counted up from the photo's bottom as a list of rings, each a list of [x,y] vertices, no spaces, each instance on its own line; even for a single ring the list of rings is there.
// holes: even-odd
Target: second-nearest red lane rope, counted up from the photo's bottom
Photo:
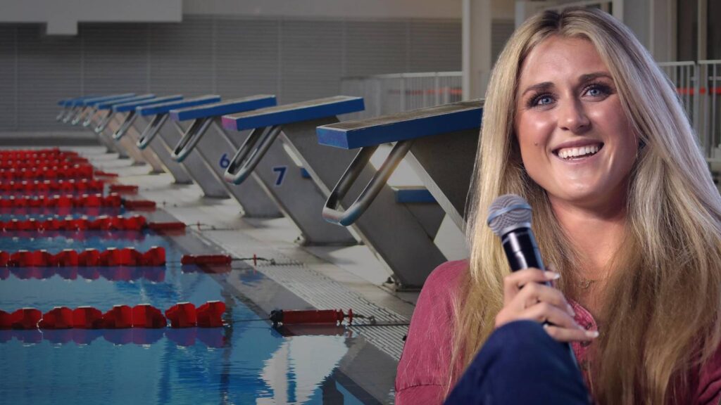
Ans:
[[[115,267],[115,266],[163,266],[165,248],[153,246],[148,252],[141,253],[135,248],[108,248],[103,252],[85,249],[76,252],[65,249],[58,254],[45,250],[19,250],[14,253],[0,252],[0,267]]]

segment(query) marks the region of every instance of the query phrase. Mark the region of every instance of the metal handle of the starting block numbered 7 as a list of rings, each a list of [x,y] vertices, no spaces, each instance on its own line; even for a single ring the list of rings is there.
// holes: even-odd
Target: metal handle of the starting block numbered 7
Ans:
[[[233,184],[241,184],[253,172],[255,166],[258,165],[260,159],[263,159],[265,153],[270,146],[278,138],[280,134],[280,125],[273,125],[270,130],[265,131],[265,127],[255,128],[252,130],[245,142],[233,156],[228,169],[223,174],[227,182]],[[264,133],[265,132],[265,133]],[[254,148],[255,144],[258,144]]]

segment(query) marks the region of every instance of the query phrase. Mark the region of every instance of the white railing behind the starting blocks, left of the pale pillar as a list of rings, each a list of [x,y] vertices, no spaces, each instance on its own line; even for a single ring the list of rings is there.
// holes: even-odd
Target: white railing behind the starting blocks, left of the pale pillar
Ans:
[[[345,117],[350,120],[459,102],[463,96],[461,72],[346,77],[340,86],[341,94],[363,97],[366,102],[365,111]]]

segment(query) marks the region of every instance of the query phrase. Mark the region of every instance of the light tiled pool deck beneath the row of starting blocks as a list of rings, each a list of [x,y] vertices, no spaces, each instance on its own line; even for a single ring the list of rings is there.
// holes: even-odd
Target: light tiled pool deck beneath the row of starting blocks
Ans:
[[[201,240],[218,246],[218,253],[274,259],[274,265],[259,262],[256,267],[272,280],[264,288],[249,288],[232,273],[216,278],[227,284],[226,290],[244,296],[260,310],[353,308],[379,323],[394,324],[350,326],[348,333],[362,337],[363,343],[354,344],[339,367],[340,373],[379,402],[393,401],[395,369],[407,333],[404,325],[410,322],[418,293],[398,293],[384,286],[391,273],[370,249],[299,246],[294,243],[299,231],[286,218],[244,218],[236,201],[203,197],[197,185],[174,184],[169,174],[150,174],[149,166],[118,159],[101,146],[61,148],[78,151],[97,169],[118,173],[119,183],[138,185],[138,197],[156,201],[159,209],[187,223]]]

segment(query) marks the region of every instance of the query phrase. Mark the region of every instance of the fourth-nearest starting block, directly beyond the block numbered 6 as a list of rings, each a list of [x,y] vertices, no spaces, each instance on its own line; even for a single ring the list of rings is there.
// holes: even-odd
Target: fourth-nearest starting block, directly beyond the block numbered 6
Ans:
[[[168,112],[176,107],[193,107],[197,105],[210,104],[220,101],[221,97],[216,95],[206,95],[202,97],[193,97],[190,99],[181,99],[172,102],[164,102],[161,104],[151,104],[136,107],[138,116],[143,117],[148,122],[146,128],[143,129],[141,135],[135,142],[135,146],[139,150],[145,150],[151,144],[151,148],[163,148],[164,154],[170,156],[172,147],[177,143],[180,135],[175,133],[172,128],[163,128],[168,119]],[[160,135],[160,136],[156,136]],[[159,140],[159,146],[151,143],[154,139]],[[169,159],[171,159],[169,157]],[[173,159],[171,159],[173,160]],[[175,162],[175,161],[174,161]],[[175,162],[178,164],[177,162]],[[193,156],[187,161],[180,164],[190,175],[193,181],[203,190],[203,195],[209,198],[228,198],[226,187],[213,175],[213,170],[203,161],[200,156]]]

